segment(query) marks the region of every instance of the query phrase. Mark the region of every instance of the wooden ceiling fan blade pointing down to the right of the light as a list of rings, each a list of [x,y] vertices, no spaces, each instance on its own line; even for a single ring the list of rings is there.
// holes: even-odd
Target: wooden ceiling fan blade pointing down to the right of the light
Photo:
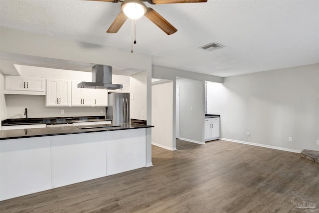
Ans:
[[[163,18],[157,11],[151,7],[147,8],[145,16],[149,18],[153,23],[155,23],[161,30],[163,30],[167,35],[173,34],[177,31],[173,25],[171,25],[165,18]]]

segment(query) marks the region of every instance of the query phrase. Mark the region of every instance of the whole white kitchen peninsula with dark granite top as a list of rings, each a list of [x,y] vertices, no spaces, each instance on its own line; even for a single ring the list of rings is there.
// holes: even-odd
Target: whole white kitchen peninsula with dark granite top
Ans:
[[[148,167],[146,128],[124,123],[0,130],[0,200]]]

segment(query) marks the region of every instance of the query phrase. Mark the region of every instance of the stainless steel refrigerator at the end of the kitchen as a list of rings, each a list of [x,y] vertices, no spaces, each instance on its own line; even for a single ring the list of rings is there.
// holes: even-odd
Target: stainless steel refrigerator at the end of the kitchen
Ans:
[[[109,93],[106,119],[113,125],[130,122],[130,93]]]

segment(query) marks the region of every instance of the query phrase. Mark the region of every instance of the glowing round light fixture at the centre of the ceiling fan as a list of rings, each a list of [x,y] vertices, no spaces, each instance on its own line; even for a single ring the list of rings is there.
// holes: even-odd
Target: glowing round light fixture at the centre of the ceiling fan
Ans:
[[[131,19],[139,19],[146,13],[146,5],[140,0],[125,0],[121,9]]]

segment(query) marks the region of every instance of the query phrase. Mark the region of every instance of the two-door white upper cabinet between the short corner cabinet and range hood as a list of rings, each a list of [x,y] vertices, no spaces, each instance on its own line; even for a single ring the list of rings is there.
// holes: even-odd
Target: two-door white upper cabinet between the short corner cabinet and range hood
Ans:
[[[45,99],[45,106],[71,106],[71,81],[47,79]]]

